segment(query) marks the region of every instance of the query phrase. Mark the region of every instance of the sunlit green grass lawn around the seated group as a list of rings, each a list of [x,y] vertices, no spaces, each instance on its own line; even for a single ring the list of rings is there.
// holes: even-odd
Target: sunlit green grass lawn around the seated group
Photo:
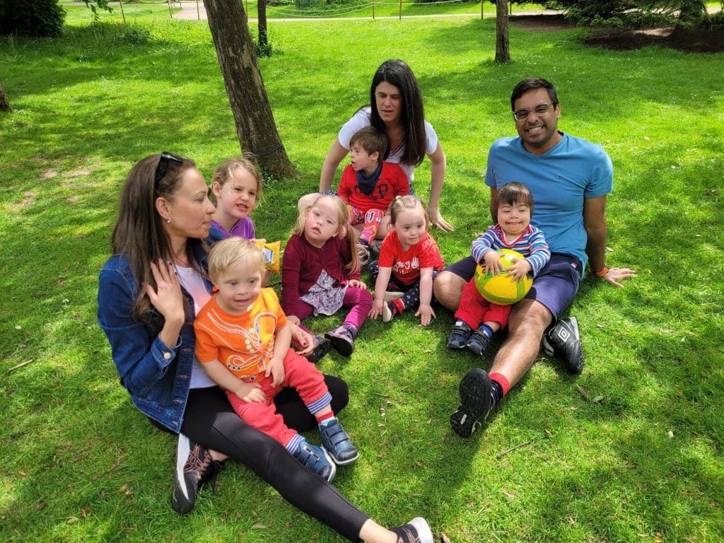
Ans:
[[[724,540],[724,55],[586,49],[583,30],[512,27],[514,62],[500,66],[494,21],[475,17],[270,30],[275,54],[261,68],[300,177],[266,180],[253,218],[267,239],[287,239],[296,199],[316,188],[372,73],[399,57],[447,154],[441,207],[456,230],[433,233],[448,262],[488,224],[481,176],[492,141],[514,133],[510,90],[541,75],[557,85],[560,129],[610,153],[607,260],[639,271],[623,290],[584,280],[571,307],[581,376],[542,357],[468,440],[447,424],[458,382],[487,369],[500,340],[483,359],[448,353],[442,308],[427,328],[409,314],[367,324],[350,360],[321,363],[350,384],[342,421],[362,452],[337,487],[381,523],[424,515],[459,543]],[[174,439],[132,407],[96,324],[98,270],[132,165],[174,151],[209,180],[239,151],[206,24],[4,38],[0,74],[14,108],[0,114],[0,539],[341,541],[243,466],[192,514],[173,513]],[[429,193],[428,161],[416,177]]]

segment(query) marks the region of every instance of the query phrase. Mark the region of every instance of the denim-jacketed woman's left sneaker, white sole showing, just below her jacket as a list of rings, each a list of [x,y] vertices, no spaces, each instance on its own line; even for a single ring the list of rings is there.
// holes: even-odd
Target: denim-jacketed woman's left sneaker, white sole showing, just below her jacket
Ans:
[[[211,458],[211,454],[184,434],[179,434],[176,448],[176,473],[171,507],[176,513],[185,515],[196,503],[196,494],[204,484],[216,483],[216,473],[222,463]]]

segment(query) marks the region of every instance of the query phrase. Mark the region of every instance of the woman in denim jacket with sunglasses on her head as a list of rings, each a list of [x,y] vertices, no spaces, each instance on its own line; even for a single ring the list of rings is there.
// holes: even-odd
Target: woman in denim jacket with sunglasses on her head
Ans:
[[[178,513],[193,509],[201,485],[232,458],[351,541],[432,543],[423,518],[382,528],[274,439],[241,421],[195,361],[193,319],[211,293],[203,240],[214,206],[207,191],[190,159],[161,153],[136,164],[121,194],[114,256],[98,286],[98,322],[122,385],[152,424],[178,434],[172,507]],[[311,351],[311,336],[299,329],[295,342],[300,353]],[[325,379],[332,408],[340,411],[347,385]],[[283,391],[274,403],[288,426],[302,432],[316,424],[295,391]]]

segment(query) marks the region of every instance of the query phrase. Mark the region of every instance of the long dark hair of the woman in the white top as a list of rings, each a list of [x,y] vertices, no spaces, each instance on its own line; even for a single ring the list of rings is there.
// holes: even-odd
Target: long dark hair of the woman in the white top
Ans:
[[[400,162],[417,166],[425,158],[427,147],[427,136],[425,133],[425,111],[422,105],[422,93],[420,85],[418,85],[415,75],[410,67],[402,60],[392,59],[382,63],[374,72],[372,77],[372,85],[369,89],[369,101],[372,109],[371,122],[377,130],[387,134],[387,128],[384,121],[379,117],[377,111],[377,101],[374,97],[374,91],[380,83],[390,83],[400,89],[402,98],[402,117],[403,143],[405,144],[405,152]],[[390,151],[395,151],[391,149]]]

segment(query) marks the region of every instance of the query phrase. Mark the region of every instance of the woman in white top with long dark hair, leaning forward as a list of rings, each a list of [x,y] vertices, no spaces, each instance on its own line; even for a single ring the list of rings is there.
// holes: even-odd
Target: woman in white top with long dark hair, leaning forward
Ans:
[[[439,198],[445,177],[445,153],[432,125],[425,120],[420,86],[405,62],[388,60],[382,63],[372,78],[370,104],[359,109],[345,122],[337,139],[332,143],[321,167],[319,192],[330,193],[329,188],[332,187],[337,167],[350,152],[350,138],[361,128],[373,125],[390,138],[390,155],[385,160],[399,164],[404,170],[410,180],[411,193],[415,168],[424,160],[425,155],[429,156],[432,163],[432,186],[427,207],[430,220],[442,230],[452,231],[452,225],[445,221],[439,212]],[[318,195],[314,193],[302,196],[298,203],[299,208],[311,205]],[[377,237],[380,239],[387,235],[388,222],[390,218],[385,216],[377,230]]]

